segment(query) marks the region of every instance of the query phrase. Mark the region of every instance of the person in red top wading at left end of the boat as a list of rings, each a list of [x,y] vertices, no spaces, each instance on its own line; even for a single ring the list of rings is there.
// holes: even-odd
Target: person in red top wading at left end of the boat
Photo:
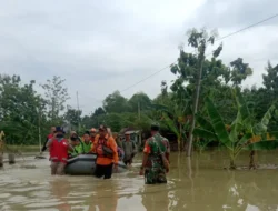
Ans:
[[[47,147],[51,149],[51,174],[62,175],[68,160],[68,150],[72,150],[72,147],[64,139],[61,127],[56,128],[56,137],[48,141]]]

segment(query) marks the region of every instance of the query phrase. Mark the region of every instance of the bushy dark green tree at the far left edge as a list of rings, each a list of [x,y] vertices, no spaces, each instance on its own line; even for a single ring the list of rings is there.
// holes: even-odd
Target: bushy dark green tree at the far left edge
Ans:
[[[32,80],[21,86],[19,76],[0,76],[0,130],[4,131],[9,144],[38,143],[44,100],[37,94],[33,84]]]

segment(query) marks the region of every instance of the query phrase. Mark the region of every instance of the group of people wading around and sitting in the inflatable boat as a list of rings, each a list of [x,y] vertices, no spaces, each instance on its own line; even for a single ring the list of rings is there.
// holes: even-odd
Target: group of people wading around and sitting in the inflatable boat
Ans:
[[[137,145],[126,134],[123,140],[112,135],[109,128],[100,125],[98,130],[92,128],[80,138],[75,131],[70,132],[69,139],[61,127],[52,127],[42,151],[49,149],[51,161],[51,174],[63,174],[69,158],[78,154],[96,153],[97,178],[110,179],[113,169],[117,171],[119,160],[126,165],[131,165],[137,153]],[[143,148],[142,165],[140,175],[145,175],[145,182],[166,183],[166,173],[169,171],[169,141],[159,133],[159,127],[151,127],[151,137]]]

